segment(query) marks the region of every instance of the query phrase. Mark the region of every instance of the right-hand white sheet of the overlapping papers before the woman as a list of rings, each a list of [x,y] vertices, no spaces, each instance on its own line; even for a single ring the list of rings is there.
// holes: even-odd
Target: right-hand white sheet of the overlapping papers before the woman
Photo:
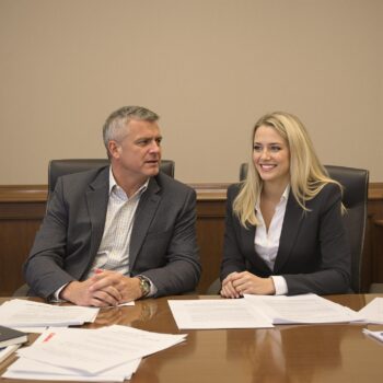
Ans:
[[[274,324],[349,323],[360,320],[355,311],[316,294],[294,297],[249,295],[245,301],[267,315]]]

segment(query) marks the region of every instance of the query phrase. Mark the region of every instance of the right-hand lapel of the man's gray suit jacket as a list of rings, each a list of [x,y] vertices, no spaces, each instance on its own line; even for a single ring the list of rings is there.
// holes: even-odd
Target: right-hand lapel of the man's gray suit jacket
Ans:
[[[142,242],[147,236],[150,223],[152,222],[158,209],[161,190],[155,178],[149,181],[148,189],[142,194],[135,214],[135,223],[131,230],[130,248],[129,248],[129,268],[134,269],[137,255],[142,246]]]

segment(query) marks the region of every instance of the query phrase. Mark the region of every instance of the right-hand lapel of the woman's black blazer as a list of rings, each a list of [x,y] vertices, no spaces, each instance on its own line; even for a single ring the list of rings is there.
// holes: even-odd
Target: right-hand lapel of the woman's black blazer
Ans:
[[[302,220],[303,210],[297,202],[292,193],[290,192],[288,204],[286,206],[282,231],[280,233],[278,254],[276,263],[274,265],[274,274],[278,274],[278,271],[288,260],[291,253],[291,248],[295,242],[297,235],[301,228]]]

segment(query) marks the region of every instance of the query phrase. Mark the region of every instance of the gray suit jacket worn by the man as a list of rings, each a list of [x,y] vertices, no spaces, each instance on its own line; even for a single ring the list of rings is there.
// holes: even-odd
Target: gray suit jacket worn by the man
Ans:
[[[44,298],[82,280],[96,256],[108,202],[108,166],[58,179],[46,217],[24,265],[30,294]],[[156,297],[196,288],[196,194],[160,173],[142,194],[130,239],[130,276],[148,277]]]

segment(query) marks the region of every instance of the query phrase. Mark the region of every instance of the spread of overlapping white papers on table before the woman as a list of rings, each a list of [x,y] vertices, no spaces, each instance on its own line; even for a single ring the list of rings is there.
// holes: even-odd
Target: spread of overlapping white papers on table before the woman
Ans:
[[[245,295],[239,300],[170,300],[178,328],[267,328],[274,324],[360,321],[355,311],[315,294]]]

